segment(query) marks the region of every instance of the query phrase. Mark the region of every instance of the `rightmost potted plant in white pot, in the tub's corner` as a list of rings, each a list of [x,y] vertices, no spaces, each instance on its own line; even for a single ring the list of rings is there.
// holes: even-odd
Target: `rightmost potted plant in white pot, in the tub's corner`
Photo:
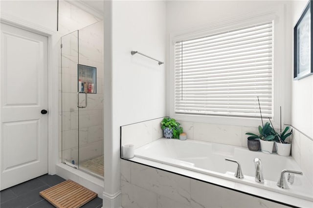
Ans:
[[[288,130],[290,129],[289,126],[286,126],[283,132],[280,134],[277,134],[275,131],[275,146],[277,150],[277,154],[282,156],[289,156],[290,150],[291,150],[291,141],[287,141],[286,139],[291,136],[292,129],[290,132]],[[288,133],[287,133],[288,132]]]

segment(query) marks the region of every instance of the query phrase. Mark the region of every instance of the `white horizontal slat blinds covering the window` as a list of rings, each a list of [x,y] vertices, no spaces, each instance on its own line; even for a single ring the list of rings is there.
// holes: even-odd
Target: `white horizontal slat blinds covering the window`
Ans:
[[[272,22],[175,43],[175,112],[272,117]]]

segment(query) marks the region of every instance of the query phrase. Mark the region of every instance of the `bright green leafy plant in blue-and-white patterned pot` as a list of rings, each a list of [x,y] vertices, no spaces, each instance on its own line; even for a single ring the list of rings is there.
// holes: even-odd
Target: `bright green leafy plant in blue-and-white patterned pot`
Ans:
[[[164,117],[161,122],[161,128],[165,138],[179,139],[179,134],[182,133],[182,127],[180,124],[170,117]]]

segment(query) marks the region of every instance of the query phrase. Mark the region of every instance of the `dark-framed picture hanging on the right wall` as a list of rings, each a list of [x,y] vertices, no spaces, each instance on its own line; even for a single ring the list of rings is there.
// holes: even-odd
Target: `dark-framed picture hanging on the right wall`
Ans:
[[[293,28],[293,79],[300,80],[313,74],[312,0],[309,0]]]

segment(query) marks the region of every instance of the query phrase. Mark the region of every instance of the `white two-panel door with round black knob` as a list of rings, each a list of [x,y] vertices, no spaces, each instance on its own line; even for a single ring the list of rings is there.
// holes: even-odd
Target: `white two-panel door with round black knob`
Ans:
[[[0,189],[48,172],[47,37],[1,23]],[[56,84],[56,87],[58,84]]]

